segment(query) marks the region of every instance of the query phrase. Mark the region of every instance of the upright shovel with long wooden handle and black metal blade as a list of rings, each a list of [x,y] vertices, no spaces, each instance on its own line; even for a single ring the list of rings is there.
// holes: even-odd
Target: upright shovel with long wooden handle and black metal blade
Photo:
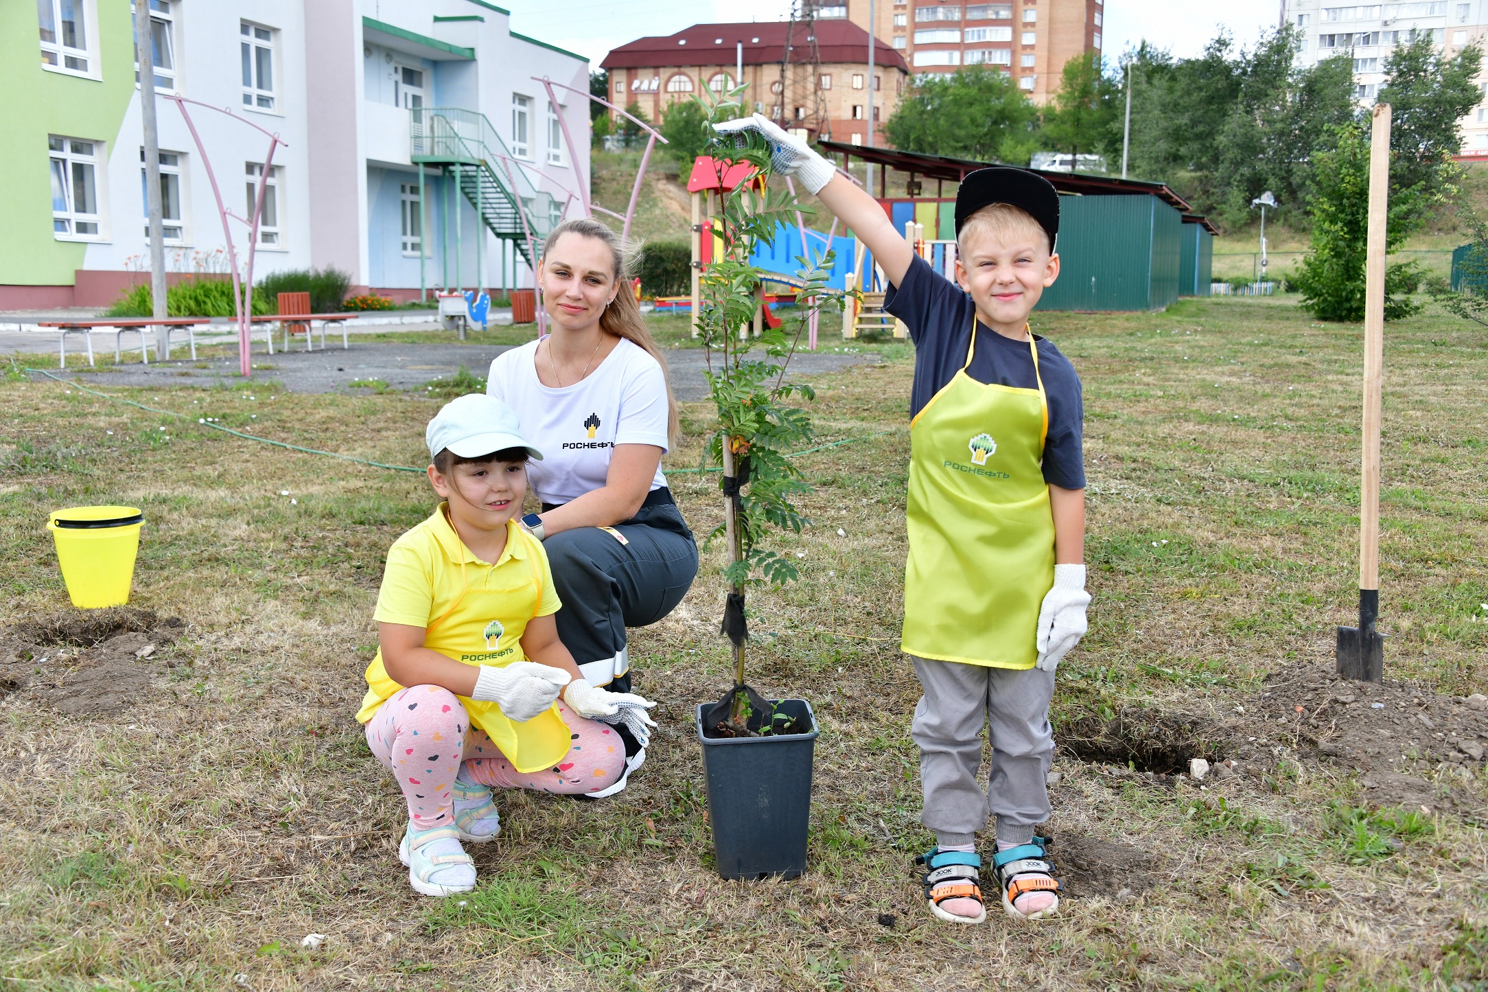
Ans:
[[[1390,104],[1375,104],[1369,137],[1369,239],[1364,260],[1364,430],[1359,480],[1359,626],[1338,628],[1338,674],[1384,678],[1379,619],[1379,413],[1385,360],[1385,222],[1390,199]]]

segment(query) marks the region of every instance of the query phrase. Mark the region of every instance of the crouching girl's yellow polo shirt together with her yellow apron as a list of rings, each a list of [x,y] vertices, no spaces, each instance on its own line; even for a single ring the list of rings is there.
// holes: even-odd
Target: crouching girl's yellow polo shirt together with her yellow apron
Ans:
[[[449,524],[448,504],[403,534],[387,552],[375,620],[421,626],[424,647],[466,665],[503,668],[525,660],[522,634],[534,617],[562,604],[542,541],[516,521],[506,525],[506,549],[493,565],[464,546]],[[382,700],[403,689],[382,666],[382,651],[368,665],[368,695],[357,720],[366,723]],[[571,744],[552,706],[525,723],[507,720],[494,702],[460,696],[470,723],[491,735],[518,772],[557,764]]]

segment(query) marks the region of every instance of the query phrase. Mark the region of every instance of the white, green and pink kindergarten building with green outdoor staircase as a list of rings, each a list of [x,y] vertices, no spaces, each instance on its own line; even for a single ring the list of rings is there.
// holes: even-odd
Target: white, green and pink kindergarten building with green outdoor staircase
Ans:
[[[582,211],[588,62],[512,31],[493,3],[149,3],[171,278],[226,271],[213,178],[247,214],[269,146],[211,107],[287,143],[256,277],[335,266],[397,299],[530,286],[528,229]],[[149,278],[132,34],[126,0],[0,4],[18,89],[0,144],[0,309],[104,306]],[[579,92],[551,101],[542,77]],[[187,110],[210,174],[171,95],[207,104]],[[243,259],[247,228],[232,233]]]

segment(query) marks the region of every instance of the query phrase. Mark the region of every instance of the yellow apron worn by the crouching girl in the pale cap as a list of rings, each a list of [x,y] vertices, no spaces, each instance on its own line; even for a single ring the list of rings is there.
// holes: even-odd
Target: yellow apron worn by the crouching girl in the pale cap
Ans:
[[[518,540],[536,540],[527,537],[525,532],[516,531],[519,534]],[[467,665],[493,665],[496,668],[504,668],[512,662],[527,660],[522,653],[521,637],[527,625],[521,625],[521,629],[504,629],[500,622],[488,623],[490,617],[510,616],[512,614],[512,589],[472,589],[469,579],[466,577],[466,547],[460,546],[460,580],[463,589],[460,598],[445,610],[445,613],[436,617],[424,635],[424,645],[430,647],[445,657],[457,662],[464,662]],[[533,595],[533,617],[537,616],[537,610],[543,601],[542,590],[542,568],[537,565],[536,558],[528,558],[531,565],[531,595]],[[472,564],[482,565],[478,559]],[[485,565],[490,576],[491,567]],[[522,587],[516,595],[525,595],[527,587]],[[455,617],[455,625],[451,629],[442,629],[451,622],[455,610],[460,610],[460,616]],[[513,625],[515,626],[515,625]],[[494,642],[493,642],[494,640]],[[501,654],[503,648],[512,648],[506,657],[493,657],[493,654]],[[469,657],[478,657],[479,660],[467,660]],[[372,696],[378,699],[387,699],[393,693],[403,689],[391,678],[388,678],[387,669],[382,666],[382,651],[376,653],[372,663],[368,665],[366,671],[368,680],[368,699],[363,700],[363,712],[373,702]],[[494,702],[487,702],[481,699],[469,699],[466,696],[458,698],[464,703],[466,714],[470,717],[470,723],[481,727],[488,735],[491,741],[501,750],[501,754],[512,763],[518,772],[540,772],[543,769],[552,767],[562,760],[573,744],[573,738],[568,732],[568,724],[562,721],[558,715],[558,706],[549,706],[546,711],[537,714],[525,723],[516,723],[509,720],[501,708]],[[375,712],[375,709],[373,709]],[[360,715],[360,714],[359,714]]]

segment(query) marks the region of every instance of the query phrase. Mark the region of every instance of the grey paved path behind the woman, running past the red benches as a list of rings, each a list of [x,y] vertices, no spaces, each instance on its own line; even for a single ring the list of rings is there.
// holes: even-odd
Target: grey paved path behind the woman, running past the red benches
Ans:
[[[9,342],[6,338],[16,335],[0,335],[0,350]],[[34,335],[25,335],[34,341]],[[97,348],[98,342],[94,341]],[[256,352],[253,355],[254,378],[274,379],[283,382],[292,393],[333,393],[354,391],[356,381],[378,379],[396,390],[423,388],[426,382],[437,376],[454,375],[463,364],[470,372],[485,376],[491,360],[507,351],[512,345],[418,345],[418,344],[381,344],[351,341],[350,350],[342,350],[336,342],[324,351],[290,351],[275,352],[272,357]],[[71,350],[68,350],[71,351]],[[135,352],[138,354],[138,352]],[[177,351],[177,354],[182,354]],[[792,373],[836,372],[850,364],[876,361],[878,355],[841,354],[841,352],[799,352],[790,361]],[[708,384],[702,376],[704,354],[701,348],[670,348],[667,364],[671,373],[671,388],[679,400],[699,400],[707,396]],[[207,366],[207,367],[198,367]],[[55,358],[48,363],[48,372],[57,373]],[[171,360],[165,363],[152,361],[137,364],[107,366],[109,370],[91,370],[88,366],[77,366],[71,361],[67,375],[76,375],[79,381],[100,385],[144,385],[162,388],[171,385],[189,385],[211,388],[217,385],[234,385],[243,379],[238,376],[237,355],[220,358],[204,358],[201,361]]]

